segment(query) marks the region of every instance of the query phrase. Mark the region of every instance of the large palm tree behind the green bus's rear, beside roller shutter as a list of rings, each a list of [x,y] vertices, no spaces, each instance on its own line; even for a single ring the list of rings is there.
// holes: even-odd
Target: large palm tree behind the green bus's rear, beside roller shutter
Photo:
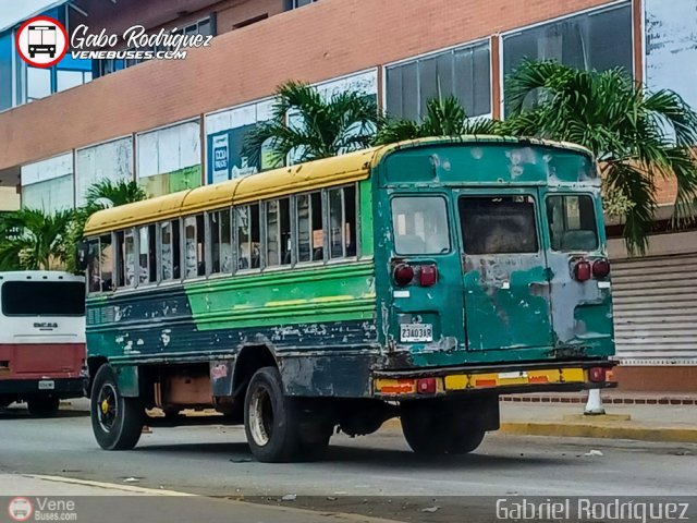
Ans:
[[[505,102],[511,134],[573,142],[596,155],[603,191],[624,217],[631,252],[648,245],[659,178],[676,182],[674,223],[694,218],[697,112],[677,94],[651,93],[619,69],[588,72],[525,61],[506,78]]]

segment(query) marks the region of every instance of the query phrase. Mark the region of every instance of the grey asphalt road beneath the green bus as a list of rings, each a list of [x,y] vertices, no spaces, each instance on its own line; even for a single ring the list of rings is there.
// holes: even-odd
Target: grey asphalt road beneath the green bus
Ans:
[[[156,428],[136,450],[106,452],[86,412],[36,419],[21,406],[0,411],[0,473],[130,478],[155,489],[399,521],[465,521],[473,506],[492,504],[470,496],[693,496],[696,470],[690,445],[492,434],[474,454],[427,459],[394,430],[335,436],[315,463],[257,463],[243,429],[223,426]],[[289,495],[297,498],[281,500]]]

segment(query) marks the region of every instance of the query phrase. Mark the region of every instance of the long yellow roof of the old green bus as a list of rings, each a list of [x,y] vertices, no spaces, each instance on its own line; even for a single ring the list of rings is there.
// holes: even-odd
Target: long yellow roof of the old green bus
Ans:
[[[208,209],[230,207],[233,204],[242,205],[258,199],[357,182],[368,178],[370,169],[394,150],[425,145],[474,143],[525,143],[573,149],[591,156],[588,149],[575,144],[534,138],[457,136],[409,139],[332,158],[272,169],[258,174],[247,174],[225,182],[100,210],[87,220],[85,235],[93,236],[115,229],[174,219],[179,216],[193,215]]]

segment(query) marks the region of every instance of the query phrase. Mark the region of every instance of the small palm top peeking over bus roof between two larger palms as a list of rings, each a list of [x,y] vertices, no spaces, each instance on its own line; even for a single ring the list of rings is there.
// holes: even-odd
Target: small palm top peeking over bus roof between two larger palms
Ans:
[[[468,119],[465,109],[454,95],[431,98],[426,102],[421,122],[404,119],[387,119],[375,138],[376,145],[426,136],[461,136],[464,134],[501,134],[501,124],[490,119]]]

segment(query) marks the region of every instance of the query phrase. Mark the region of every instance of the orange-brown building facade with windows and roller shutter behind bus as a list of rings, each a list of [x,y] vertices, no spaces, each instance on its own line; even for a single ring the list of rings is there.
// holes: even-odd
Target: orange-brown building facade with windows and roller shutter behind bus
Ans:
[[[623,68],[697,107],[697,69],[686,65],[697,63],[697,0],[76,0],[44,10],[62,12],[69,31],[139,24],[213,36],[184,60],[61,61],[47,83],[17,65],[11,47],[22,21],[5,24],[0,185],[19,185],[22,205],[48,210],[81,205],[100,179],[137,180],[155,196],[256,169],[242,141],[288,80],[325,96],[363,93],[398,117],[419,118],[440,92],[470,117],[505,118],[506,75],[524,58],[554,59]],[[674,191],[660,190],[661,220]],[[695,234],[657,234],[640,259],[611,242],[625,388],[697,391]]]

